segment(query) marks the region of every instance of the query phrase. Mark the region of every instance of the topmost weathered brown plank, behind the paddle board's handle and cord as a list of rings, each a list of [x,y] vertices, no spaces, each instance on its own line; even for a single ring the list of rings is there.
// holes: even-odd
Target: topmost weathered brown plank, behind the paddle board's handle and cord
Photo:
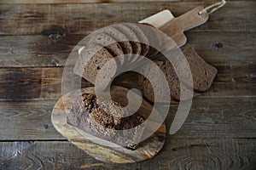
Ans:
[[[0,6],[0,34],[88,34],[120,22],[137,22],[169,8],[176,16],[212,2],[20,4]],[[193,31],[255,31],[255,1],[228,2]],[[242,22],[241,22],[242,20]]]

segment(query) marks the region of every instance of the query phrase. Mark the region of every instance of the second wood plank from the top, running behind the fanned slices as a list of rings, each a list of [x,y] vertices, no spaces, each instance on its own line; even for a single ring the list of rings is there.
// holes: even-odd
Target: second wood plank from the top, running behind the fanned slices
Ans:
[[[85,37],[52,35],[55,36],[0,37],[0,67],[64,66],[74,46]],[[256,62],[253,32],[188,31],[186,35],[197,53],[209,63]]]

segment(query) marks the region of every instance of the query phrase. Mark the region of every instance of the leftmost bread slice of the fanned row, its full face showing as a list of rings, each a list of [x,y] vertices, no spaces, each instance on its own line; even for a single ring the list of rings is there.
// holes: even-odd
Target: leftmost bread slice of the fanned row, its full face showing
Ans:
[[[73,72],[87,81],[95,84],[96,75],[108,60],[113,59],[113,55],[106,48],[97,44],[85,46],[80,52],[79,59],[73,68]],[[116,63],[108,67],[108,72],[116,71]]]

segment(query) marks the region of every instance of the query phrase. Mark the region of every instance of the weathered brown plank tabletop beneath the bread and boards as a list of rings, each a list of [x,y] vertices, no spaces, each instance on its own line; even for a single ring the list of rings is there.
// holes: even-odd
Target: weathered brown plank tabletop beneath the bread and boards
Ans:
[[[256,168],[255,1],[230,0],[207,24],[186,32],[198,54],[218,68],[218,76],[193,100],[183,127],[167,134],[163,150],[152,160],[129,165],[96,161],[51,124],[68,54],[103,26],[136,22],[165,8],[177,16],[217,0],[35,2],[0,2],[0,169]],[[119,78],[115,84],[129,88],[131,82],[131,77]],[[168,129],[176,110],[172,105]]]

